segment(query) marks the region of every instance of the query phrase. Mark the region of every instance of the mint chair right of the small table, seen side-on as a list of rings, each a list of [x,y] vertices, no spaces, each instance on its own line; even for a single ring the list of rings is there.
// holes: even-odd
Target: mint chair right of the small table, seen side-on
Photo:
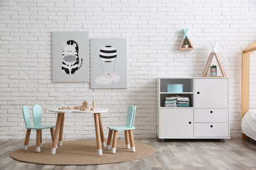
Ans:
[[[126,148],[130,148],[129,139],[131,142],[131,151],[135,152],[135,143],[133,139],[133,129],[135,129],[134,120],[135,120],[135,113],[136,113],[136,106],[133,107],[130,105],[127,109],[127,119],[126,119],[126,126],[108,126],[109,133],[108,133],[108,143],[107,143],[107,150],[110,150],[110,144],[112,139],[112,133],[114,131],[113,136],[113,144],[112,144],[112,153],[116,153],[116,143],[117,143],[117,131],[124,130],[125,131],[125,143]]]

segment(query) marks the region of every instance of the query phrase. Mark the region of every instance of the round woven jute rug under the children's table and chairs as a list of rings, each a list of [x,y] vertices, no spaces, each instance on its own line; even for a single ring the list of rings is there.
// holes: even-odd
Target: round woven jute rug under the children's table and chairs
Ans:
[[[43,143],[41,152],[35,152],[35,145],[28,150],[20,148],[10,154],[14,160],[47,165],[98,165],[138,160],[154,154],[155,148],[143,143],[135,143],[136,152],[125,148],[125,141],[117,141],[116,154],[102,148],[102,156],[98,156],[95,140],[63,141],[56,154],[51,154],[52,143]]]

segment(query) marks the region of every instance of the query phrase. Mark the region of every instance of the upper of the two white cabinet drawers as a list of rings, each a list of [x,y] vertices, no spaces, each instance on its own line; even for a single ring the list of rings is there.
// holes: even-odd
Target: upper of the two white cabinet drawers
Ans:
[[[228,109],[195,109],[195,122],[228,122]]]

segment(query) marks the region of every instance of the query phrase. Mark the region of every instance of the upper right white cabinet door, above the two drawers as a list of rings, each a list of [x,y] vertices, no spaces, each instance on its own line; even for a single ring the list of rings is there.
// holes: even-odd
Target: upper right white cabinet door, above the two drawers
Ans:
[[[228,79],[195,79],[195,107],[228,107]]]

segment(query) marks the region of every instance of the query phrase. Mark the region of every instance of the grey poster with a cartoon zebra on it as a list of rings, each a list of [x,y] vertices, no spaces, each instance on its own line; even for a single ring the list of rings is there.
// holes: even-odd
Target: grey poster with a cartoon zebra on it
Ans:
[[[53,32],[53,82],[89,82],[89,32]]]

